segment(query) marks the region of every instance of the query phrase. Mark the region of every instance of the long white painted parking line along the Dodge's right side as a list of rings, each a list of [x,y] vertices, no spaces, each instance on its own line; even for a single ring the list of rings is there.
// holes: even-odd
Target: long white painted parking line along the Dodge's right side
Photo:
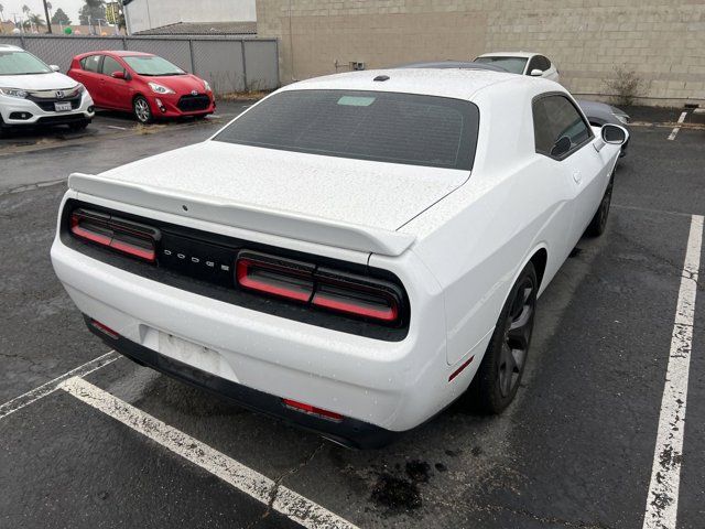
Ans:
[[[676,523],[703,219],[691,217],[643,529],[675,529]]]

